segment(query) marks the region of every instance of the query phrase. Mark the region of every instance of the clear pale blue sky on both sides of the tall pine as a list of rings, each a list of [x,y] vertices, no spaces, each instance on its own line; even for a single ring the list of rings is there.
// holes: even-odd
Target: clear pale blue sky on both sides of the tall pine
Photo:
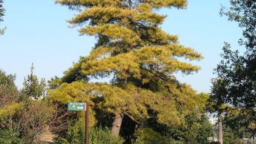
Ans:
[[[175,73],[181,82],[190,84],[198,92],[210,92],[213,69],[221,61],[224,42],[239,48],[242,30],[236,22],[228,22],[219,15],[221,5],[229,6],[228,0],[188,0],[185,10],[163,9],[160,14],[168,17],[161,26],[164,31],[179,36],[179,43],[190,46],[203,55],[198,73]],[[0,69],[16,74],[16,84],[22,88],[24,77],[34,73],[39,78],[62,77],[79,56],[87,56],[94,46],[94,37],[80,36],[77,28],[69,28],[66,20],[75,11],[56,5],[54,0],[5,0],[6,13],[0,27],[7,27],[0,36]]]

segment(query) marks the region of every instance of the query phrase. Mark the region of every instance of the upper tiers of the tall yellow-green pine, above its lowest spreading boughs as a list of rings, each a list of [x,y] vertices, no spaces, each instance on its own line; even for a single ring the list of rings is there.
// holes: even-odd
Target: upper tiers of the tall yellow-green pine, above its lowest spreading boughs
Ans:
[[[154,8],[184,8],[186,1],[131,1],[132,6],[128,2],[56,1],[80,9],[68,22],[81,26],[81,35],[98,40],[91,54],[80,62],[83,75],[109,77],[115,73],[119,80],[148,82],[154,75],[167,79],[175,71],[198,71],[198,66],[178,59],[200,60],[202,56],[180,45],[176,35],[161,30],[166,16],[154,12]]]

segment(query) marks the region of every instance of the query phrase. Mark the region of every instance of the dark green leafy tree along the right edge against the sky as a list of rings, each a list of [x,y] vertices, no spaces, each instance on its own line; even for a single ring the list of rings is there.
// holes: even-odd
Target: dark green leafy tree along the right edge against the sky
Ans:
[[[225,103],[238,108],[255,107],[255,22],[256,2],[230,1],[230,9],[221,10],[221,14],[228,16],[228,20],[238,22],[243,29],[243,39],[240,45],[245,47],[244,54],[238,50],[232,51],[229,44],[225,44],[221,63],[217,65],[216,72],[227,81],[225,86],[227,94]]]

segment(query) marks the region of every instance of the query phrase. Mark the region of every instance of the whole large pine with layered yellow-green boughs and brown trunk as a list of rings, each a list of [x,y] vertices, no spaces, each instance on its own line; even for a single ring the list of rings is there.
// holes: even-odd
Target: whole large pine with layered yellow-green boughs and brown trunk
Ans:
[[[97,43],[89,56],[82,57],[64,77],[51,82],[54,88],[49,92],[51,99],[62,103],[89,101],[95,115],[114,115],[112,132],[116,135],[127,115],[140,124],[151,121],[156,125],[179,126],[185,115],[202,111],[207,95],[196,94],[174,76],[177,71],[190,74],[200,69],[181,58],[201,60],[202,56],[179,44],[177,35],[165,33],[160,25],[167,16],[154,11],[185,9],[186,0],[57,0],[56,3],[78,10],[79,14],[68,22],[73,27],[81,26],[81,35],[95,36]],[[110,84],[87,82],[93,77],[112,75]]]

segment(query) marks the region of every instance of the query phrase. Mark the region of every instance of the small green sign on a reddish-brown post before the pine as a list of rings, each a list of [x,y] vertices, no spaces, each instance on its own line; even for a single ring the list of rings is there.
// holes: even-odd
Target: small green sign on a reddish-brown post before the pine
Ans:
[[[89,105],[88,102],[70,102],[68,111],[85,111],[85,144],[89,144]]]

